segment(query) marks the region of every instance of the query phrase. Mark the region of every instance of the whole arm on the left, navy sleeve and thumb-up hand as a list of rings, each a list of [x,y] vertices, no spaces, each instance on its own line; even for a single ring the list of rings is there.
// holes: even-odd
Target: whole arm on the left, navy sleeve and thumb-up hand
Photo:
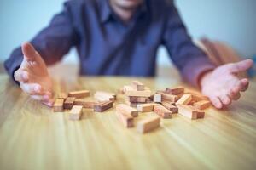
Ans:
[[[69,3],[66,3],[64,10],[55,15],[48,27],[31,43],[26,42],[15,49],[4,63],[9,75],[19,82],[20,88],[45,105],[53,104],[52,80],[47,65],[61,60],[78,43],[71,14]]]

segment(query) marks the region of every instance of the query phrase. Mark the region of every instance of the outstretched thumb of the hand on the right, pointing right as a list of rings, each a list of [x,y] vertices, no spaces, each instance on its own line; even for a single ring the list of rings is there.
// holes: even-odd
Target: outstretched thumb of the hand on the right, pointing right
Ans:
[[[230,65],[230,71],[232,73],[247,71],[252,66],[253,66],[253,60],[252,59],[245,59],[245,60],[239,61],[237,63],[231,64]]]

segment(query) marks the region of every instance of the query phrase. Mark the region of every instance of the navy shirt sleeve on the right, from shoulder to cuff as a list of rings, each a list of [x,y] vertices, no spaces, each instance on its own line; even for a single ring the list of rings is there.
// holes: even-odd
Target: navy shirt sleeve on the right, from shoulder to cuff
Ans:
[[[163,44],[183,79],[198,87],[201,75],[215,68],[207,55],[192,42],[177,8],[168,4]]]

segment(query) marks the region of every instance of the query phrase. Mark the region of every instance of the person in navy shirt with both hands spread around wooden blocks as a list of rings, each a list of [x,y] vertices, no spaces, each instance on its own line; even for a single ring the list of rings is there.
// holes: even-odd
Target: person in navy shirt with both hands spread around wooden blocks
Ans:
[[[4,63],[32,99],[53,105],[47,65],[75,47],[81,75],[152,77],[155,54],[164,45],[183,79],[201,88],[216,108],[230,105],[248,87],[236,77],[253,65],[246,59],[216,67],[197,48],[177,8],[167,0],[72,0],[49,26],[15,49]]]

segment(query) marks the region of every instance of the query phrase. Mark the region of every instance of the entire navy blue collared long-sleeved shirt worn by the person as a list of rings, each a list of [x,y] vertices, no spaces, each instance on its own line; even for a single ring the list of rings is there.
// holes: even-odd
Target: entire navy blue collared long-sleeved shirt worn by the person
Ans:
[[[152,77],[160,45],[166,46],[183,78],[194,85],[202,72],[214,67],[195,47],[177,8],[168,0],[145,0],[129,23],[119,19],[108,0],[67,1],[31,42],[47,65],[75,47],[81,75]],[[22,58],[17,48],[5,61],[10,76]]]

